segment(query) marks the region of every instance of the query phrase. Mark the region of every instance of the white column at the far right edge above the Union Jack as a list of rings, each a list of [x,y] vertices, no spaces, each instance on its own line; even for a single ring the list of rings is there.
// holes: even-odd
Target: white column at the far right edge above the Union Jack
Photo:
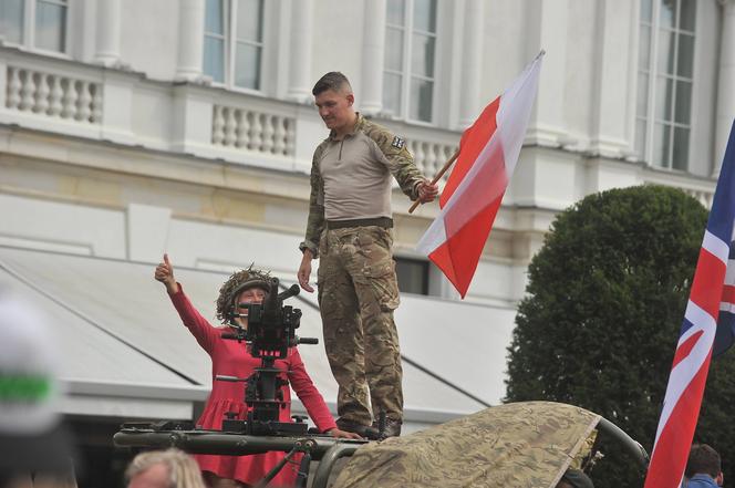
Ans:
[[[721,1],[722,44],[720,46],[720,79],[717,86],[715,128],[715,174],[725,156],[729,129],[735,117],[735,0]]]

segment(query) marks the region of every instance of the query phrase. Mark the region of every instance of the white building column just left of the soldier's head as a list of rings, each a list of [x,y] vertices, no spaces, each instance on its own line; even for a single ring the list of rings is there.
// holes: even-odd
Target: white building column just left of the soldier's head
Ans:
[[[291,2],[291,42],[288,98],[311,101],[311,45],[313,39],[313,0]]]

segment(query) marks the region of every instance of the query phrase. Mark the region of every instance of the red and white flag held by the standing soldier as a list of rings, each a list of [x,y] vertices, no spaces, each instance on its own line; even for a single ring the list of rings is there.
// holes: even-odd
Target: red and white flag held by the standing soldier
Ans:
[[[462,298],[518,162],[544,54],[541,51],[462,135],[455,168],[439,197],[442,211],[416,246]]]

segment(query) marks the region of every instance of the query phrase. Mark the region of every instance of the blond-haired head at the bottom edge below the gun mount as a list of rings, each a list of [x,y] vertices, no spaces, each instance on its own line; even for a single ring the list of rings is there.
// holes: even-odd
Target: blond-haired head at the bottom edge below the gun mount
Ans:
[[[205,488],[197,463],[176,448],[138,454],[125,478],[127,488]]]

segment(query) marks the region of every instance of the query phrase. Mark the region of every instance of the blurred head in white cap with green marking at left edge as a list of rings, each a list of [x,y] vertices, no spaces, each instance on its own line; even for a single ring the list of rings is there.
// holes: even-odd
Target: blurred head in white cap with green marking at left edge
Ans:
[[[46,323],[32,303],[0,288],[0,487],[30,474],[73,473],[59,413],[60,355]]]

